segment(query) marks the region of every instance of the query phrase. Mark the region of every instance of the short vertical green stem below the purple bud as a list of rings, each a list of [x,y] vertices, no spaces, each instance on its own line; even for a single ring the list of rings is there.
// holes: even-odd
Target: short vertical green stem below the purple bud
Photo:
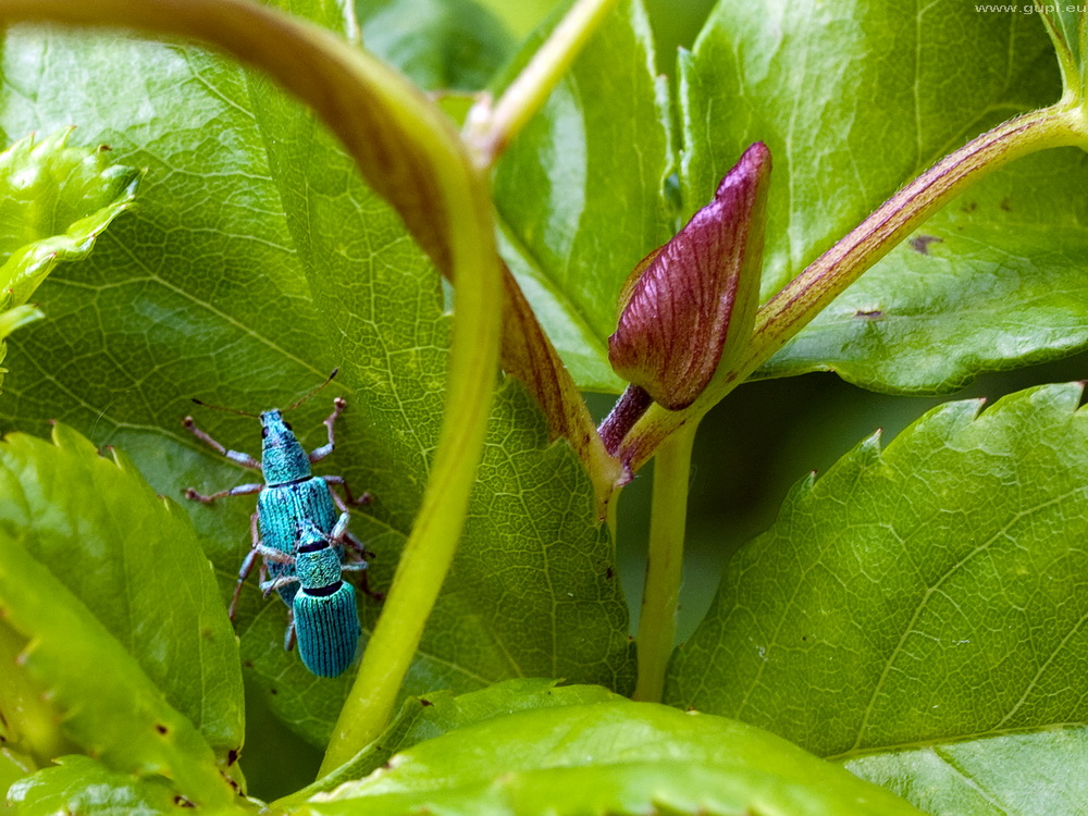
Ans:
[[[654,459],[650,549],[639,617],[639,679],[633,695],[647,703],[662,702],[665,670],[676,641],[691,447],[697,429],[698,422],[678,429]]]

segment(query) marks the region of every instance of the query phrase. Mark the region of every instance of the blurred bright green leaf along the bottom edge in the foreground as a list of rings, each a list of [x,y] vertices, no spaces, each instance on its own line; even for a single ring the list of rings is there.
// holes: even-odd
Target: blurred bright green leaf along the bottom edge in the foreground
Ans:
[[[324,814],[917,814],[766,731],[615,700],[459,728],[317,798]]]

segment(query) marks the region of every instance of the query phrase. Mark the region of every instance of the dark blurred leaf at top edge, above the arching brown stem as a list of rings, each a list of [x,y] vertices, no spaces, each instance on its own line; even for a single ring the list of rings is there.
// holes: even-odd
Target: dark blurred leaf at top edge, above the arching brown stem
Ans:
[[[479,90],[509,59],[503,24],[472,0],[356,0],[362,41],[426,90]]]

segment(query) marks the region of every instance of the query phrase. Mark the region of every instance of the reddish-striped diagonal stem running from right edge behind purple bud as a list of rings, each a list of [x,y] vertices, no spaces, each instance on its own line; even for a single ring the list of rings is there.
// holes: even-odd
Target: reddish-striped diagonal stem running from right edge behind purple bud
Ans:
[[[903,187],[759,309],[746,353],[691,407],[670,411],[652,406],[619,447],[623,463],[631,472],[636,471],[670,434],[717,405],[865,270],[967,186],[1028,153],[1086,144],[1088,126],[1084,115],[1078,104],[1063,100],[1052,108],[1017,116],[944,157]]]

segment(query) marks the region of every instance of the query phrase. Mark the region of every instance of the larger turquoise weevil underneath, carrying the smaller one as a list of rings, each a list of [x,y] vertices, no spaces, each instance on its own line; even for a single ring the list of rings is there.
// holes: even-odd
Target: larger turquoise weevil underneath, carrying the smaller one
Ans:
[[[289,408],[292,410],[309,399],[313,394],[327,385],[336,375],[333,371],[322,385],[314,388]],[[199,399],[193,401],[198,405],[208,405]],[[221,408],[220,406],[208,406],[210,408]],[[358,499],[354,498],[351,491],[343,477],[325,475],[314,477],[310,469],[312,462],[320,461],[335,448],[334,424],[337,417],[343,413],[347,404],[343,398],[333,400],[333,412],[325,419],[324,424],[329,429],[329,442],[325,445],[307,454],[299,444],[290,423],[283,419],[283,413],[279,409],[270,409],[260,413],[261,421],[261,460],[257,461],[248,454],[237,450],[228,450],[222,444],[213,440],[207,433],[197,428],[191,417],[186,417],[183,421],[185,428],[210,446],[215,452],[222,454],[227,459],[244,468],[260,470],[264,475],[264,483],[242,484],[237,487],[202,495],[191,487],[185,491],[187,498],[206,504],[214,502],[217,498],[225,496],[242,496],[257,493],[257,511],[250,519],[250,539],[252,546],[242,562],[238,570],[238,581],[234,588],[234,595],[231,598],[231,618],[237,610],[238,597],[245,580],[252,571],[254,564],[258,555],[263,555],[261,565],[261,581],[265,582],[271,577],[274,583],[280,579],[283,581],[276,589],[280,597],[293,608],[295,595],[299,590],[299,581],[294,571],[294,558],[299,530],[301,526],[309,524],[320,533],[332,539],[331,552],[335,553],[337,561],[344,558],[345,545],[351,547],[358,555],[367,554],[362,544],[350,532],[347,531],[347,505],[360,505],[370,500],[369,494],[363,494]],[[247,411],[239,411],[225,408],[233,413],[240,413],[247,417],[255,415]],[[347,495],[344,500],[333,490],[333,485],[339,485]],[[337,512],[338,510],[338,512]],[[269,553],[279,553],[282,557],[275,558]],[[366,578],[366,576],[363,576]],[[372,593],[364,585],[363,591],[373,597],[380,597]],[[354,594],[353,594],[354,598]],[[290,648],[295,628],[289,627],[284,645]]]

